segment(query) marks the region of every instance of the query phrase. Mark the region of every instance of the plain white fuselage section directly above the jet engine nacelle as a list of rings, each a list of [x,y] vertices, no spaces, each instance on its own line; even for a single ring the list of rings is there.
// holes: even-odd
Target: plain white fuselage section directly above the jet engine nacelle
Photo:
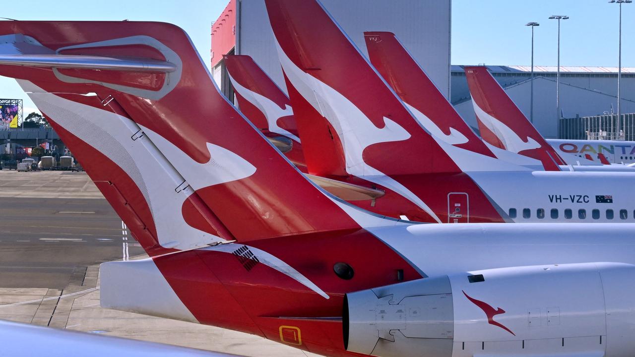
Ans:
[[[635,224],[413,224],[368,230],[424,276],[539,264],[635,264]]]

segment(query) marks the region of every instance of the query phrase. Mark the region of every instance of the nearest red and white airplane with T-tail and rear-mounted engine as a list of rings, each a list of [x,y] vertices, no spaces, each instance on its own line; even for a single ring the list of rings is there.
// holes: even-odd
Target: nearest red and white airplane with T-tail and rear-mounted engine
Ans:
[[[314,2],[265,4],[274,24],[328,18]],[[291,166],[178,27],[0,22],[0,36],[0,75],[29,91],[150,255],[102,264],[102,306],[333,357],[635,352],[633,224],[379,217]]]

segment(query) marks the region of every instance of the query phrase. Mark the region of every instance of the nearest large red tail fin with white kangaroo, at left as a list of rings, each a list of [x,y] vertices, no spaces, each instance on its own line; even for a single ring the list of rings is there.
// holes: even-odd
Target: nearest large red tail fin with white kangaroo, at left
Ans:
[[[29,93],[149,255],[359,229],[222,96],[182,29],[6,21],[0,43],[0,75]]]

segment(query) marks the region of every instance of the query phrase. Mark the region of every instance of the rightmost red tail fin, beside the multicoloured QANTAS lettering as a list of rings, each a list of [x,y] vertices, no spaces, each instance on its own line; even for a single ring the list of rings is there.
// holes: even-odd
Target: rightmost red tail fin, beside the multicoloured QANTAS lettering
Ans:
[[[548,171],[559,171],[558,165],[566,165],[486,67],[465,67],[465,77],[483,140],[500,149],[538,159]]]

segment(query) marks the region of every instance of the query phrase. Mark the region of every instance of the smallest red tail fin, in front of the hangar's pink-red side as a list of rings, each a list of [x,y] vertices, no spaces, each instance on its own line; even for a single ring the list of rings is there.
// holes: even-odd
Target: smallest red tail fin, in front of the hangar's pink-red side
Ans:
[[[301,170],[304,169],[302,144],[289,98],[251,57],[226,56],[225,66],[240,111],[274,144],[278,144],[276,146],[280,146],[284,156]],[[279,140],[280,135],[291,140],[291,145],[279,145],[284,144]]]

